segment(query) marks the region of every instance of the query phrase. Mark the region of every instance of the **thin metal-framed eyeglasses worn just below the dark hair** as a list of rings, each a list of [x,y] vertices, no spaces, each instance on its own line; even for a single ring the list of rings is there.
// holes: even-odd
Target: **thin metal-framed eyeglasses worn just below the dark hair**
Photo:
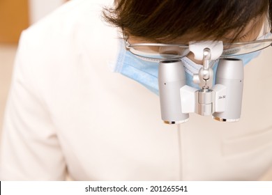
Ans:
[[[164,43],[136,43],[130,44],[128,36],[124,36],[125,46],[132,54],[145,59],[181,59],[190,52],[189,45],[164,44]],[[220,58],[228,56],[239,56],[265,49],[272,45],[272,33],[266,33],[257,40],[248,42],[224,43]]]

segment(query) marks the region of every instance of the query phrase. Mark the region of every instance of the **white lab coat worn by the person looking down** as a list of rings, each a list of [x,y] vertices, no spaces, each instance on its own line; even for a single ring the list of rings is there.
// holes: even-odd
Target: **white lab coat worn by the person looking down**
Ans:
[[[246,66],[239,123],[190,114],[179,150],[158,96],[109,68],[107,2],[70,1],[22,33],[1,180],[258,180],[272,165],[271,65]]]

